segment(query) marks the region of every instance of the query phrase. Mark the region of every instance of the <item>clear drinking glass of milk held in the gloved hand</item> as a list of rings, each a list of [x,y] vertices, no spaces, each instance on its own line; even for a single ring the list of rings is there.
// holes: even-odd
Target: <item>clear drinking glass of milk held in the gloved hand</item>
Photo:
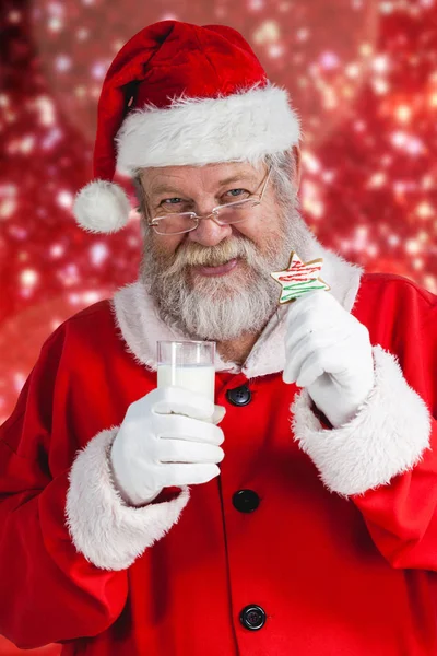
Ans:
[[[214,402],[215,342],[158,341],[157,386],[174,385]]]

